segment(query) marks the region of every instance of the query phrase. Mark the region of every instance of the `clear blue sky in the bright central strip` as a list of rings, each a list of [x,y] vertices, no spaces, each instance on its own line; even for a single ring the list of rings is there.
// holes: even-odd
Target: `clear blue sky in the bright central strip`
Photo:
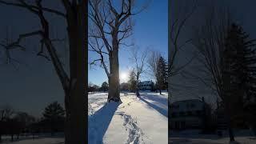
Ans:
[[[150,6],[142,13],[134,16],[134,31],[130,39],[141,50],[146,48],[158,50],[166,59],[168,53],[168,4],[167,0],[153,0]],[[128,41],[129,43],[130,41]],[[94,58],[95,53],[89,53],[89,58]],[[120,74],[128,73],[132,66],[130,62],[130,47],[121,47],[119,50]],[[107,81],[105,71],[98,66],[92,66],[89,69],[89,82],[101,85]],[[150,79],[150,78],[143,78]],[[142,80],[143,80],[142,79]]]

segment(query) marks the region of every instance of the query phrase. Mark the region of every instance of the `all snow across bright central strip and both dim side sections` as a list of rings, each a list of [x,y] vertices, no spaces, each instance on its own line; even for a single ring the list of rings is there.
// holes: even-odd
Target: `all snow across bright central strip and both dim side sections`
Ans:
[[[106,102],[107,93],[88,95],[90,144],[166,144],[168,143],[167,94],[121,94],[122,103]],[[200,130],[172,131],[171,144],[228,144],[229,137],[199,134]],[[3,137],[5,138],[5,137]],[[64,144],[64,138],[21,138],[18,142],[3,144]],[[247,131],[235,131],[240,144],[255,144],[256,138]]]

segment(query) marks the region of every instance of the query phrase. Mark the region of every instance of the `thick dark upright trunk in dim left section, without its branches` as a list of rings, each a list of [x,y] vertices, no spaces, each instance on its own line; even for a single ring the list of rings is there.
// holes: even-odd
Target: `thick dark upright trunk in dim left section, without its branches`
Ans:
[[[66,90],[66,144],[87,142],[87,1],[78,5],[77,15],[69,16],[70,86]],[[75,11],[74,11],[75,13]]]

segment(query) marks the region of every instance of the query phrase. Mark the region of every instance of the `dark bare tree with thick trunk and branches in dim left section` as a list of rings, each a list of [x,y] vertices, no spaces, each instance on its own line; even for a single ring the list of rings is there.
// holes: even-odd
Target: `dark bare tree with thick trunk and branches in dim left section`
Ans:
[[[0,0],[0,4],[26,9],[38,17],[38,22],[41,24],[38,30],[19,34],[16,41],[2,46],[7,51],[24,48],[22,46],[24,39],[34,36],[40,38],[41,46],[38,50],[38,56],[47,58],[52,62],[65,93],[65,143],[86,143],[87,0],[59,1],[59,5],[64,6],[63,11],[43,6],[42,0],[34,2]],[[54,46],[54,39],[50,38],[50,21],[47,19],[46,13],[55,14],[64,19],[63,23],[66,22],[70,54],[69,74],[60,61]]]

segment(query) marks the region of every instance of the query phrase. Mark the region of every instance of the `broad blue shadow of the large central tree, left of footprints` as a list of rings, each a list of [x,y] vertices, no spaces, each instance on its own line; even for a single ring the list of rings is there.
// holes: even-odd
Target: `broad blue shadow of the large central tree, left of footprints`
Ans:
[[[89,143],[103,143],[106,130],[120,104],[120,102],[107,102],[100,110],[90,115],[88,122]]]

